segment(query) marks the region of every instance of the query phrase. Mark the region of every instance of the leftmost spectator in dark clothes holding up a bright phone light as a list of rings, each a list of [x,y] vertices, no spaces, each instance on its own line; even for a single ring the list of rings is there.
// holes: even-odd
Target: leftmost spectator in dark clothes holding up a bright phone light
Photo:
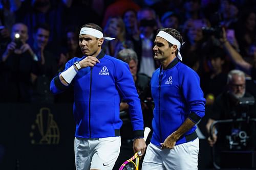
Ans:
[[[23,23],[12,27],[12,41],[1,57],[1,102],[30,102],[31,73],[36,72],[34,52],[26,41],[28,28]]]

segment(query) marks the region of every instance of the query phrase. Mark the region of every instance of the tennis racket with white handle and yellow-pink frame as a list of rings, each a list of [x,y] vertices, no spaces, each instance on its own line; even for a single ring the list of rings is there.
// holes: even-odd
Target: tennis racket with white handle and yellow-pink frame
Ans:
[[[150,133],[151,129],[146,127],[144,130],[144,140],[146,141],[146,138],[148,134]],[[120,166],[119,170],[139,170],[139,154],[140,152],[136,152],[134,156],[125,162]],[[134,162],[135,160],[135,162]]]

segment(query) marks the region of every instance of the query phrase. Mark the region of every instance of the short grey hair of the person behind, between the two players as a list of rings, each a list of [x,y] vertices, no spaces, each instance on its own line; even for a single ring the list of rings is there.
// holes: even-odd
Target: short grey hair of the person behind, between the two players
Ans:
[[[118,52],[117,58],[126,63],[129,63],[132,60],[134,60],[136,63],[138,63],[138,57],[137,57],[136,52],[130,48],[124,48],[123,50]]]

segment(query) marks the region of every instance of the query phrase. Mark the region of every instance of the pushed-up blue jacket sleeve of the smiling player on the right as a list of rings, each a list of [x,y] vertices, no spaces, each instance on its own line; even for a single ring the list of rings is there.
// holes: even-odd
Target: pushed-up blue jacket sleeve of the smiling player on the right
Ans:
[[[181,77],[182,92],[189,109],[188,118],[198,123],[205,114],[205,99],[200,87],[200,78],[192,69],[187,69]]]

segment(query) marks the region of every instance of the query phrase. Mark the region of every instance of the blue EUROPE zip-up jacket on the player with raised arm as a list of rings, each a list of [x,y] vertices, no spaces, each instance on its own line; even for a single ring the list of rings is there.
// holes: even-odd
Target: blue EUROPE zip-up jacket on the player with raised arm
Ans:
[[[85,57],[71,59],[66,63],[65,70]],[[135,137],[143,137],[140,99],[129,66],[121,60],[105,55],[103,51],[97,58],[100,63],[94,67],[80,69],[72,80],[75,136],[81,138],[119,136],[122,125],[119,105],[122,98],[129,104]],[[50,90],[56,94],[68,87],[63,85],[57,76],[51,81]]]

